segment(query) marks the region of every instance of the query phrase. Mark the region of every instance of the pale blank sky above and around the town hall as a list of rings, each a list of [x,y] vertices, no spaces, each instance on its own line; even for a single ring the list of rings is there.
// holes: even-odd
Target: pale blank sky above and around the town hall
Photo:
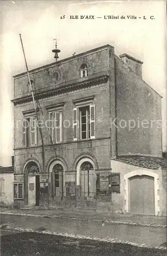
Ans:
[[[60,17],[65,15],[64,19]],[[70,19],[70,15],[102,18]],[[104,15],[118,19],[104,19]],[[121,16],[126,19],[121,19]],[[137,16],[128,19],[127,15]],[[143,17],[146,17],[144,19]],[[154,16],[154,19],[150,19]],[[141,17],[141,18],[138,18]],[[162,143],[166,145],[166,1],[1,1],[1,164],[11,165],[13,153],[13,76],[54,62],[56,36],[59,60],[109,44],[118,56],[142,60],[142,78],[162,98]]]

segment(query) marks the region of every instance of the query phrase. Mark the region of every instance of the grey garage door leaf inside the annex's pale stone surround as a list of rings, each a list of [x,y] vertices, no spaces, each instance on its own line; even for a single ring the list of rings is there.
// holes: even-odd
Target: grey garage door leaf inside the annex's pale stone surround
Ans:
[[[154,177],[141,175],[129,179],[130,213],[154,215]]]

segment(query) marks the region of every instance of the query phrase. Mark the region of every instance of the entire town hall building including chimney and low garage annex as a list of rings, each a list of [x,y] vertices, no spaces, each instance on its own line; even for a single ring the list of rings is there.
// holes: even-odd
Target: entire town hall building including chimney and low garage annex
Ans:
[[[31,70],[36,111],[14,76],[14,205],[165,214],[161,96],[141,67],[105,45]]]

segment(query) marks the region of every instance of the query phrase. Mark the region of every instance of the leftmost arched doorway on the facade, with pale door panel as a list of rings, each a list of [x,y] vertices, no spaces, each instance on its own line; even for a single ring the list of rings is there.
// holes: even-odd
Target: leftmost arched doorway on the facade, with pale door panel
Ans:
[[[25,203],[29,206],[39,206],[39,197],[39,166],[32,160],[25,167]]]

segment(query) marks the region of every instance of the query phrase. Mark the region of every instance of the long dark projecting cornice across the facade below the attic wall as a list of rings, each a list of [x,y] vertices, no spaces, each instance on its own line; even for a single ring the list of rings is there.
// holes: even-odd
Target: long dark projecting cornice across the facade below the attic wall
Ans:
[[[101,82],[106,82],[108,80],[108,78],[109,78],[108,75],[103,75],[103,76],[99,76],[96,78],[91,78],[89,80],[71,83],[71,84],[68,84],[68,86],[63,86],[60,88],[51,89],[51,90],[47,90],[44,92],[39,92],[39,93],[35,94],[34,97],[35,97],[35,100],[43,99],[43,98],[47,98],[47,97],[53,97],[54,95],[57,95],[57,94],[74,91],[76,89],[88,88],[88,87],[94,86],[96,84],[99,84]],[[13,102],[14,105],[17,105],[20,103],[30,102],[32,100],[33,100],[32,96],[29,95],[29,96],[13,99],[13,100],[11,100],[11,102]]]

